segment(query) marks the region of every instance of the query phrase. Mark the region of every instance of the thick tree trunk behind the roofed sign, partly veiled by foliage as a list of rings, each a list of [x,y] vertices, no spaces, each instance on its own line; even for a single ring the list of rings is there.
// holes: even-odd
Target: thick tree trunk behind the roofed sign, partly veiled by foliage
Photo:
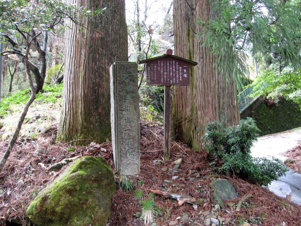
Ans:
[[[198,65],[191,67],[190,86],[174,86],[172,117],[176,136],[200,150],[207,124],[215,120],[223,121],[226,126],[237,124],[239,111],[233,79],[218,73],[215,57],[202,47],[195,34],[200,31],[197,19],[210,16],[210,1],[187,2],[190,6],[186,1],[174,1],[175,55],[194,60]]]

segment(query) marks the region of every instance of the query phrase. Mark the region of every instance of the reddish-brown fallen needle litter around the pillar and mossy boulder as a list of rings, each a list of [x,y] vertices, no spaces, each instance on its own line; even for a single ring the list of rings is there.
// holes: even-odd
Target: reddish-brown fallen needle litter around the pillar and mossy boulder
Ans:
[[[0,173],[0,220],[5,225],[7,219],[17,217],[24,225],[27,225],[26,208],[33,200],[35,195],[42,188],[51,183],[64,169],[64,166],[57,172],[49,173],[46,167],[59,162],[64,158],[54,158],[50,156],[69,155],[71,152],[68,147],[73,147],[77,155],[103,156],[108,164],[114,169],[112,160],[111,143],[107,142],[98,146],[97,149],[62,144],[55,142],[56,128],[52,128],[43,134],[38,140],[18,141],[4,168]],[[3,153],[8,142],[0,143],[0,153]],[[178,206],[177,201],[165,199],[161,196],[155,197],[158,208],[162,211],[162,217],[156,217],[157,225],[169,225],[169,222],[176,220],[184,212],[193,221],[183,222],[183,225],[203,225],[199,212],[211,210],[212,191],[210,182],[216,178],[207,161],[207,154],[204,151],[195,152],[187,146],[172,142],[172,156],[170,161],[162,164],[154,164],[153,160],[162,160],[163,147],[163,128],[155,123],[141,125],[141,173],[137,177],[130,179],[135,183],[135,190],[142,189],[144,196],[149,195],[148,190],[160,190],[163,180],[171,180],[174,175],[179,176],[173,184],[166,187],[169,192],[185,193],[191,195],[199,201],[199,208],[195,210],[189,204]],[[34,154],[38,152],[41,156]],[[173,161],[183,158],[179,173],[172,174],[161,169],[172,168]],[[197,178],[190,181],[189,178]],[[261,217],[261,225],[301,225],[301,207],[286,199],[278,198],[273,193],[263,187],[258,187],[248,182],[237,179],[227,178],[236,188],[239,197],[231,200],[238,200],[245,194],[252,194],[249,198],[249,206],[242,207],[239,211],[231,208],[220,211],[220,216],[231,217],[231,225],[239,225],[241,221],[249,217]],[[116,180],[118,176],[116,175]],[[141,211],[139,200],[134,198],[134,192],[117,190],[111,204],[111,216],[109,225],[142,225],[142,222],[134,217],[134,213]],[[257,225],[254,223],[253,225]]]

